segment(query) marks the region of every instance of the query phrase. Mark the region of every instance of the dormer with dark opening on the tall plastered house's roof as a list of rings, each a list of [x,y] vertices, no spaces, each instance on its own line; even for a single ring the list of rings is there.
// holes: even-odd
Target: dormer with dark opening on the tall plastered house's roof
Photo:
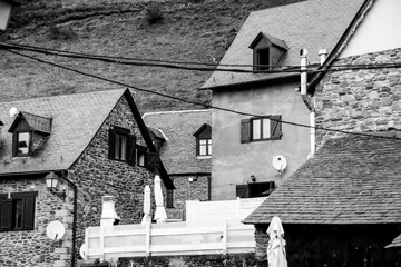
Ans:
[[[253,49],[253,70],[270,70],[278,63],[288,47],[283,40],[260,32],[250,46]]]

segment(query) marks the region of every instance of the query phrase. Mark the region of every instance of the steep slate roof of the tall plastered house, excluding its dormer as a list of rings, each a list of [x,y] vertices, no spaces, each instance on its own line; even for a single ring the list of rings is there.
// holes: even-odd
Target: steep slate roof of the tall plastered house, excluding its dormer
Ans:
[[[260,32],[283,40],[290,48],[283,55],[280,65],[299,66],[302,48],[307,49],[310,62],[319,62],[317,51],[326,49],[330,53],[333,50],[363,2],[364,0],[309,0],[252,12],[221,63],[252,65],[253,51],[248,47]],[[242,67],[242,69],[252,70],[252,67]],[[292,75],[294,73],[215,71],[203,88],[284,78]]]

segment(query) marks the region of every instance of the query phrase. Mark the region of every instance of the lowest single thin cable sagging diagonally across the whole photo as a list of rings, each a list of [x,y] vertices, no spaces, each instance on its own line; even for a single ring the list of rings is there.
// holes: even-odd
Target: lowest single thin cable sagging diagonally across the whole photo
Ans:
[[[123,87],[131,88],[131,89],[135,89],[135,90],[138,90],[138,91],[148,92],[148,93],[157,95],[157,96],[165,97],[165,98],[170,98],[170,99],[174,99],[174,100],[178,100],[178,101],[183,101],[183,102],[187,102],[187,103],[192,103],[192,105],[196,105],[196,106],[202,106],[204,108],[213,108],[213,109],[217,109],[217,110],[222,110],[222,111],[226,111],[226,112],[232,112],[232,113],[237,113],[237,115],[243,115],[243,116],[248,116],[248,117],[264,118],[264,116],[262,116],[262,115],[248,113],[248,112],[237,111],[237,110],[233,110],[233,109],[228,109],[228,108],[222,108],[222,107],[216,107],[216,106],[212,106],[212,105],[205,105],[205,103],[196,102],[196,101],[179,98],[179,97],[174,97],[174,96],[169,96],[169,95],[166,95],[166,93],[143,89],[143,88],[131,86],[131,85],[127,85],[127,83],[124,83],[124,82],[120,82],[120,81],[110,80],[110,79],[107,79],[107,78],[104,78],[104,77],[100,77],[100,76],[86,73],[86,72],[82,72],[80,70],[71,69],[69,67],[65,67],[65,66],[61,66],[61,65],[49,62],[49,61],[38,59],[38,58],[35,58],[35,57],[31,57],[31,56],[28,56],[28,55],[19,53],[19,52],[9,50],[9,49],[4,49],[4,50],[8,51],[8,52],[11,52],[11,53],[14,53],[14,55],[19,55],[21,57],[26,57],[26,58],[36,60],[36,61],[41,62],[41,63],[50,65],[50,66],[61,68],[61,69],[65,69],[65,70],[69,70],[69,71],[72,71],[72,72],[76,72],[76,73],[79,73],[79,75],[82,75],[82,76],[87,76],[87,77],[91,77],[91,78],[99,79],[99,80],[102,80],[102,81],[107,81],[107,82],[110,82],[110,83],[115,83],[115,85],[119,85],[119,86],[123,86]],[[376,135],[370,135],[370,134],[363,134],[363,132],[352,132],[352,131],[336,130],[336,129],[330,129],[330,128],[316,127],[316,126],[312,127],[312,126],[309,126],[309,125],[302,125],[302,123],[296,123],[296,122],[285,121],[285,120],[276,120],[276,121],[278,121],[281,123],[285,123],[285,125],[303,127],[303,128],[310,128],[310,129],[316,129],[316,130],[340,132],[340,134],[354,135],[354,136],[374,137],[374,138],[382,138],[382,139],[401,140],[401,138],[398,138],[398,137],[387,137],[387,136],[376,136]]]

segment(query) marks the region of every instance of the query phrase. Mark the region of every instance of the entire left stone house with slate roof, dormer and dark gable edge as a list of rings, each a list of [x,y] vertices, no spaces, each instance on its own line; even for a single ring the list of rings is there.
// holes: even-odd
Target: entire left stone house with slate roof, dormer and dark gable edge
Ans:
[[[155,174],[174,189],[129,90],[1,102],[0,116],[1,266],[76,266],[102,196],[133,224]],[[57,241],[47,237],[53,220],[66,233]]]

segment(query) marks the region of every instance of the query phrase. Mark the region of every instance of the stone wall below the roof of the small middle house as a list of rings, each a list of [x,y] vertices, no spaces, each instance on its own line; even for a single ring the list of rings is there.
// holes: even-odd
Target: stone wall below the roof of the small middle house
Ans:
[[[189,181],[193,178],[193,181]],[[174,180],[174,208],[167,208],[167,217],[169,219],[185,220],[185,201],[209,199],[209,179],[207,175],[182,175],[170,176]]]

